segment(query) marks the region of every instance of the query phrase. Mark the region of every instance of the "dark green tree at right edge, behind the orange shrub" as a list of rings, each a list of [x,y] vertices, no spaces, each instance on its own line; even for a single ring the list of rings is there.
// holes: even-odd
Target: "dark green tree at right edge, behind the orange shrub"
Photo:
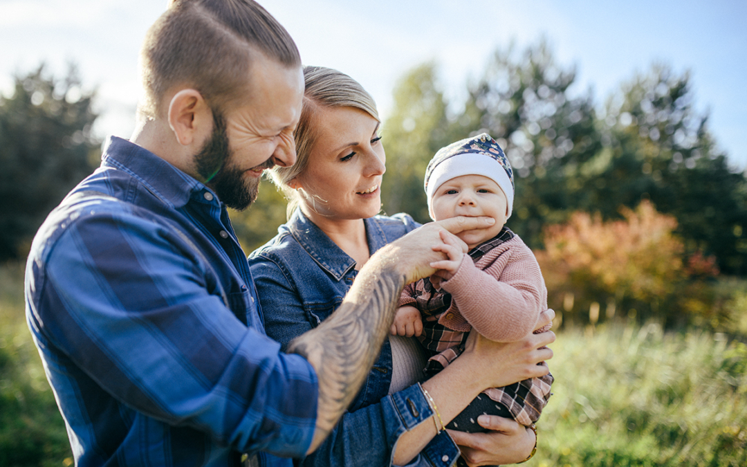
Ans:
[[[724,272],[744,275],[747,179],[728,167],[693,101],[689,74],[665,65],[624,84],[607,102],[603,163],[583,182],[580,208],[614,217],[620,205],[649,199],[677,218],[687,255],[714,255]]]

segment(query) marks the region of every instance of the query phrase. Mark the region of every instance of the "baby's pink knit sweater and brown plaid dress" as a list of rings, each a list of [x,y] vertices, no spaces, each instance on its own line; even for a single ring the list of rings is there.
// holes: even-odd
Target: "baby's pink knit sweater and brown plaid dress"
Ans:
[[[480,318],[488,321],[500,321],[497,318],[498,313],[504,312],[503,309],[506,309],[506,313],[513,312],[517,307],[514,303],[503,303],[510,302],[510,300],[501,300],[501,291],[492,291],[491,288],[494,288],[492,283],[498,287],[498,282],[515,285],[518,281],[522,283],[522,290],[533,289],[534,309],[541,311],[547,308],[547,290],[539,272],[539,265],[536,265],[536,259],[521,238],[507,227],[504,226],[495,238],[473,248],[468,256],[472,261],[468,262],[465,258],[453,278],[441,284],[441,290],[436,290],[429,279],[421,279],[407,285],[400,297],[400,306],[415,306],[421,312],[423,333],[419,338],[431,353],[425,369],[431,375],[441,371],[462,353],[468,333],[472,329],[471,324],[460,311],[462,308],[460,297],[466,298],[464,306],[469,308],[471,317],[480,315]],[[479,276],[480,274],[482,276]],[[489,275],[488,279],[486,275]],[[483,281],[480,282],[477,290],[465,293],[461,290],[464,287],[449,287],[460,280],[471,282],[472,277],[478,277]],[[527,284],[533,286],[530,287]],[[444,291],[443,288],[450,288],[452,293]],[[511,310],[508,311],[508,309]],[[521,319],[524,321],[524,327],[509,329],[510,326],[501,326],[500,329],[493,330],[495,335],[483,332],[479,326],[478,330],[495,341],[518,340],[529,332],[530,328],[527,326],[533,327],[536,323],[539,311],[536,311],[533,316],[522,316],[516,320],[510,320],[520,321]],[[540,333],[547,329],[549,326],[535,332]],[[540,365],[546,365],[546,363],[542,362]],[[458,415],[447,427],[460,431],[483,430],[476,421],[477,415],[483,413],[483,408],[486,413],[514,418],[525,426],[533,424],[538,420],[550,398],[553,381],[552,375],[547,374],[503,388],[487,389],[462,412],[465,416]],[[479,406],[480,409],[477,407],[471,409],[473,404]],[[475,409],[478,412],[475,412]]]

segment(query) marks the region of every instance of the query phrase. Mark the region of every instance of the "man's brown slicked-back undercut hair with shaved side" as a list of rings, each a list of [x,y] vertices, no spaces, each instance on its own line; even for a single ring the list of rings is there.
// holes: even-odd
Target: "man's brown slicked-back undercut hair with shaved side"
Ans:
[[[167,109],[161,100],[175,86],[196,89],[213,109],[241,103],[257,52],[287,67],[301,66],[291,35],[255,1],[170,1],[140,50],[140,116],[162,116]]]

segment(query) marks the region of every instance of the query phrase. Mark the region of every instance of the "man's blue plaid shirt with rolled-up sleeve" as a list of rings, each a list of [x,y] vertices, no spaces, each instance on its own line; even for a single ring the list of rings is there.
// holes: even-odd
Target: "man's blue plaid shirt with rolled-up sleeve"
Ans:
[[[246,257],[205,185],[112,138],[49,214],[26,314],[76,466],[291,466],[314,433],[309,362],[264,334]],[[260,452],[264,451],[264,452]]]

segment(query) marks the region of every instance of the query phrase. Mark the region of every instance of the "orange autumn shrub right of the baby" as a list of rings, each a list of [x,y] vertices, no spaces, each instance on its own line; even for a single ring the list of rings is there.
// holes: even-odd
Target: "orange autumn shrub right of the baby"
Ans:
[[[553,306],[571,321],[599,321],[618,312],[666,325],[710,321],[717,310],[713,257],[684,257],[674,217],[650,202],[635,211],[622,208],[623,220],[577,212],[568,223],[545,229],[545,251],[537,252]],[[586,311],[588,310],[588,315]]]

